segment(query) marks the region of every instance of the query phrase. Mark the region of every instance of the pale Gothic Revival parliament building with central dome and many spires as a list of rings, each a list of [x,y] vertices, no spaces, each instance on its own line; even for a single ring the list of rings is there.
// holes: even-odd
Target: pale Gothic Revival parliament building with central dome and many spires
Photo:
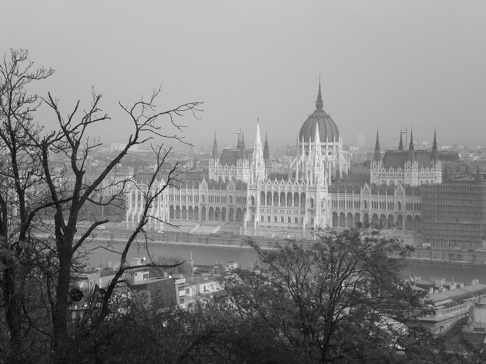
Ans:
[[[218,152],[216,135],[207,171],[187,171],[168,186],[151,208],[147,230],[231,231],[240,235],[306,237],[316,228],[350,228],[371,220],[397,236],[421,230],[420,186],[442,182],[434,133],[432,151],[415,150],[413,133],[404,146],[380,151],[377,132],[369,179],[352,180],[350,155],[324,108],[321,85],[315,110],[297,135],[296,153],[286,171],[272,169],[267,135],[262,144],[257,120],[253,148],[238,133],[236,149]],[[139,221],[149,173],[138,173],[128,194],[127,226]],[[154,188],[164,184],[161,177]],[[205,230],[206,229],[206,230]],[[401,235],[400,235],[401,234]]]

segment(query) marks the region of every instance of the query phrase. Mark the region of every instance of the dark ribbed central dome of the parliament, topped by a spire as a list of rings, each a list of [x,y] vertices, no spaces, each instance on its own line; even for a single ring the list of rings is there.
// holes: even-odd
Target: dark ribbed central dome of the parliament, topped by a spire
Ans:
[[[304,121],[299,132],[299,142],[304,139],[304,142],[308,142],[311,138],[311,142],[315,141],[315,124],[319,124],[319,139],[321,143],[339,141],[339,130],[336,123],[331,117],[326,114],[322,108],[322,96],[321,96],[321,82],[319,81],[319,92],[317,94],[317,101],[315,101],[315,111],[311,116]]]

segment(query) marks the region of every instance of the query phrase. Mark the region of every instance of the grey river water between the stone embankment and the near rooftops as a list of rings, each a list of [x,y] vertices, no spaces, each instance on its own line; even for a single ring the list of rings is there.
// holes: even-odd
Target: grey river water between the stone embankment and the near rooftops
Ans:
[[[99,243],[90,243],[85,245],[87,249],[99,247]],[[122,243],[113,243],[112,250],[121,251]],[[150,244],[148,252],[145,248],[132,245],[128,253],[128,259],[136,257],[149,256],[156,259],[159,256],[180,256],[182,259],[191,259],[194,265],[211,265],[221,264],[228,261],[237,262],[242,268],[254,266],[258,261],[258,255],[251,249],[234,249],[234,248],[206,248],[206,247],[189,247],[174,246],[162,244]],[[103,248],[89,250],[89,264],[98,265],[117,265],[120,264],[120,254],[107,251]],[[422,279],[431,277],[444,277],[446,281],[452,279],[456,282],[469,283],[473,279],[479,279],[480,283],[486,283],[486,267],[454,265],[443,263],[421,263],[409,262],[403,269],[405,277],[420,276]]]

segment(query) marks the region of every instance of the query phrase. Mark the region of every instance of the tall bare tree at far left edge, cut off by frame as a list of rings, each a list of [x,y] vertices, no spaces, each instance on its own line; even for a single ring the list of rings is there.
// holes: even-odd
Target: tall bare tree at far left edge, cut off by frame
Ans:
[[[20,273],[29,265],[27,235],[43,204],[39,198],[42,166],[32,149],[42,128],[33,121],[40,99],[26,86],[52,75],[52,69],[33,69],[26,50],[11,50],[0,65],[0,285],[12,352],[22,352],[23,307]],[[26,132],[28,131],[28,133]],[[38,222],[38,221],[37,221]],[[21,272],[22,271],[22,272]]]

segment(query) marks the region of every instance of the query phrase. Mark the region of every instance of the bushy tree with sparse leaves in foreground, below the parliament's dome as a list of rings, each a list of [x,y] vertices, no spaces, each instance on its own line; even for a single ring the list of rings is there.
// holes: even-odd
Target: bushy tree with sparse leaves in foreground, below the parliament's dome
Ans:
[[[264,250],[259,270],[237,270],[210,301],[192,344],[197,363],[400,362],[407,322],[428,311],[401,279],[398,241],[358,225],[316,232],[318,242]],[[201,332],[201,331],[200,331]]]

